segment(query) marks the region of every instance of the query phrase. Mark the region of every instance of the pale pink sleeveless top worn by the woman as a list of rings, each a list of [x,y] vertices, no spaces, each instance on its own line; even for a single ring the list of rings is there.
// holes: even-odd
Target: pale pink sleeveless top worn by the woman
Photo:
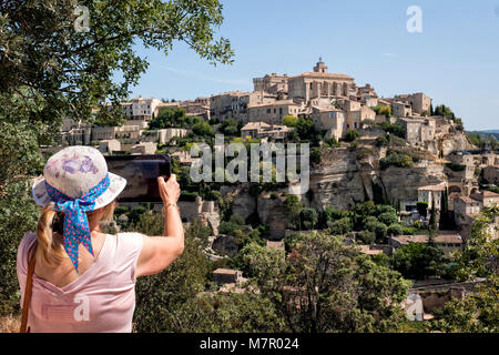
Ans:
[[[37,234],[26,234],[18,250],[21,305],[28,252],[35,240]],[[139,233],[108,234],[89,270],[63,287],[33,275],[28,316],[31,332],[130,333],[135,308],[135,267],[142,241]]]

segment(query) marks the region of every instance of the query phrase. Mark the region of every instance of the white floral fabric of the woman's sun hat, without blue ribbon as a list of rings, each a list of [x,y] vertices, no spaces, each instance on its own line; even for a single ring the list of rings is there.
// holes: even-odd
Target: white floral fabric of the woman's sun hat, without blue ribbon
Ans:
[[[45,182],[72,199],[79,199],[109,176],[108,189],[95,200],[93,210],[114,201],[126,185],[126,180],[108,172],[104,156],[91,146],[69,146],[52,155],[33,184],[37,204],[48,205],[52,199],[47,192]]]

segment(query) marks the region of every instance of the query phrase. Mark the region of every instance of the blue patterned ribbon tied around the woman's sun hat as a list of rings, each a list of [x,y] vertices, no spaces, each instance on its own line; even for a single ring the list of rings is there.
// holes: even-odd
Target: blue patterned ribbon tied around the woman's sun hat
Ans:
[[[101,180],[99,184],[90,189],[81,197],[70,197],[58,189],[51,186],[45,181],[47,193],[59,211],[65,213],[64,216],[64,250],[68,253],[74,268],[78,271],[78,246],[80,243],[93,255],[92,243],[90,240],[90,225],[86,217],[86,211],[93,211],[95,207],[95,200],[102,195],[110,185],[109,174]]]

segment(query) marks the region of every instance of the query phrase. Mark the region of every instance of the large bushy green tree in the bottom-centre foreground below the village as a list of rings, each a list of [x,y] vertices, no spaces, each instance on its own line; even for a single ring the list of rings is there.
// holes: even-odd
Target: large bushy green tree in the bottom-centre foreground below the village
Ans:
[[[245,247],[252,281],[293,332],[389,332],[404,322],[409,283],[342,239],[310,233],[292,252]]]

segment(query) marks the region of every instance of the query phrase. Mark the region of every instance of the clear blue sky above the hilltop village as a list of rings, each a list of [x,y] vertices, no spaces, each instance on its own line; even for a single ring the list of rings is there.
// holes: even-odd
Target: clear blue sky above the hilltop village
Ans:
[[[445,103],[467,130],[499,129],[499,0],[222,0],[218,33],[235,51],[213,67],[187,45],[139,49],[151,65],[134,97],[194,99],[252,90],[252,79],[312,71],[319,55],[378,95],[422,91]],[[409,33],[409,6],[422,10],[422,33]]]

